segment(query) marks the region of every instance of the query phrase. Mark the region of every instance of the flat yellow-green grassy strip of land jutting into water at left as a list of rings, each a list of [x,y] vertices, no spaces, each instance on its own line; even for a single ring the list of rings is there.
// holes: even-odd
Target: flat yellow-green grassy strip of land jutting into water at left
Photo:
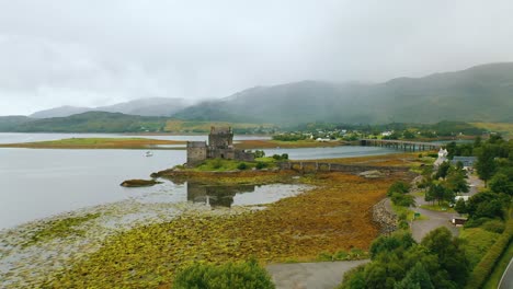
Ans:
[[[185,144],[185,141],[147,138],[69,138],[50,141],[0,144],[0,148],[30,149],[155,149],[159,144]]]

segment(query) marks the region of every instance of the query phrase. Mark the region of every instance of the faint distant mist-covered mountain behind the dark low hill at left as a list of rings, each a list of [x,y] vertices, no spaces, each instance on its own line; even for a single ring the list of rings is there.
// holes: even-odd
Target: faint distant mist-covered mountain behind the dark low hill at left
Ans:
[[[86,112],[122,113],[141,116],[170,116],[185,107],[183,99],[147,97],[98,107],[59,106],[33,113],[33,118],[66,117]]]

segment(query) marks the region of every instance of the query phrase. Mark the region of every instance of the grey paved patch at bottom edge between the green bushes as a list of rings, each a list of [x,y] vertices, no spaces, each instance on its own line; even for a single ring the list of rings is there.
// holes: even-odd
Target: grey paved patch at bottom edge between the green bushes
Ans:
[[[368,259],[320,263],[273,264],[267,271],[277,289],[333,289],[347,270]]]

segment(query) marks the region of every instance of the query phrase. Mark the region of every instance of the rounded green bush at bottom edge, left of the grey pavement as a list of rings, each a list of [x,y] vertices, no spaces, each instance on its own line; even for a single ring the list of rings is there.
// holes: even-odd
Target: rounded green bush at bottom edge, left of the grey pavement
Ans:
[[[275,288],[267,271],[256,261],[220,266],[194,264],[176,274],[173,288]]]

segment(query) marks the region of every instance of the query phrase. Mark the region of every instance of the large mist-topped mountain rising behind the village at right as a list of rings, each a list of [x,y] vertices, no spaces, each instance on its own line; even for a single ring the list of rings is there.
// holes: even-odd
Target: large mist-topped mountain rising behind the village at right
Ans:
[[[301,81],[186,107],[181,119],[298,124],[512,122],[513,62],[377,84]]]

